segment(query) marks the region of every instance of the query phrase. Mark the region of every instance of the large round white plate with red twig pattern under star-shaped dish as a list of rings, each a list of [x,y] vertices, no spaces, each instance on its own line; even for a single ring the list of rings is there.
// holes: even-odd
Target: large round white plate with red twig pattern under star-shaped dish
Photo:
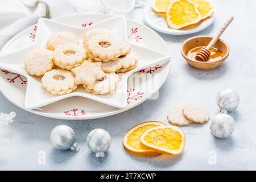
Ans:
[[[93,23],[100,22],[101,20],[110,17],[110,15],[103,14],[80,14],[63,16],[55,18],[54,20],[73,27],[87,27]],[[36,28],[35,24],[14,36],[14,38],[2,48],[1,53],[13,52],[16,49],[30,46],[35,40]],[[164,43],[163,39],[147,26],[127,19],[127,32],[129,42],[169,55],[167,45]],[[168,61],[167,63],[158,64],[134,73],[134,75],[137,74],[138,76],[142,73],[146,73],[146,82],[144,82],[144,84],[135,82],[135,84],[133,83],[132,85],[129,84],[129,82],[127,83],[128,107],[125,109],[118,109],[113,106],[101,104],[100,102],[93,101],[88,98],[69,97],[64,100],[54,102],[53,104],[40,107],[40,109],[28,111],[38,115],[43,115],[44,117],[75,120],[101,118],[122,113],[123,111],[141,104],[155,94],[166,80],[170,67],[171,62]],[[153,88],[148,87],[147,82],[152,81],[153,78],[158,79],[157,84],[154,84]],[[0,69],[0,90],[2,94],[9,101],[22,109],[24,109],[26,85],[27,81],[25,77]]]

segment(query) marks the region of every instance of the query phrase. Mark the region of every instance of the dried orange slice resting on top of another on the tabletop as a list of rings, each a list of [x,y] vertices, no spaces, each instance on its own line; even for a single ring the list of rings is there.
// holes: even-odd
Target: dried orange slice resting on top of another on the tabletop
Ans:
[[[185,133],[177,126],[158,126],[145,131],[141,142],[152,150],[177,155],[185,146]]]

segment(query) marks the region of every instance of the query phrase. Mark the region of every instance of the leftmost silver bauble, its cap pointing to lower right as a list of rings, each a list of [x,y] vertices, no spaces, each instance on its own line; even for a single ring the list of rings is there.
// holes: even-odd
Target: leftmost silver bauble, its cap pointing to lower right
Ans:
[[[67,125],[56,126],[51,132],[51,142],[58,150],[76,150],[79,151],[75,141],[75,132]]]

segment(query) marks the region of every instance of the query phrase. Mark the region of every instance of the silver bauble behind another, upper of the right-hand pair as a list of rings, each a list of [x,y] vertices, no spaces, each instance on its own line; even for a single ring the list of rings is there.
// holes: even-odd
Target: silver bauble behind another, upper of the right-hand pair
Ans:
[[[233,89],[225,89],[217,94],[216,103],[220,109],[232,111],[237,109],[240,97]]]

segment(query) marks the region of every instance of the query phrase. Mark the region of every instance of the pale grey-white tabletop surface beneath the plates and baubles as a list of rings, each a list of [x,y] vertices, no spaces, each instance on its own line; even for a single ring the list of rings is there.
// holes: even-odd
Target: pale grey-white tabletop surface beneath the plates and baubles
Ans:
[[[256,169],[256,1],[215,0],[216,19],[212,26],[193,35],[163,35],[172,57],[172,68],[166,83],[159,90],[158,100],[143,104],[112,117],[90,121],[61,121],[28,113],[11,104],[0,94],[0,111],[15,111],[15,122],[1,132],[11,140],[0,146],[0,169],[72,169],[72,170],[180,170],[180,169]],[[221,67],[212,71],[198,71],[181,57],[180,46],[195,35],[214,35],[230,15],[234,22],[222,35],[230,46],[230,56]],[[142,10],[134,10],[129,18],[143,22]],[[231,113],[236,130],[228,139],[217,139],[210,134],[210,122],[183,127],[187,143],[183,154],[142,158],[123,150],[122,137],[126,131],[143,121],[167,122],[167,112],[175,106],[199,102],[218,113],[217,92],[233,88],[240,94],[240,106]],[[53,127],[66,124],[76,133],[79,153],[58,151],[49,142]],[[86,146],[89,131],[101,127],[112,135],[112,147],[105,158],[97,159]],[[38,164],[38,152],[46,152],[46,164]],[[209,163],[216,155],[216,164]]]

